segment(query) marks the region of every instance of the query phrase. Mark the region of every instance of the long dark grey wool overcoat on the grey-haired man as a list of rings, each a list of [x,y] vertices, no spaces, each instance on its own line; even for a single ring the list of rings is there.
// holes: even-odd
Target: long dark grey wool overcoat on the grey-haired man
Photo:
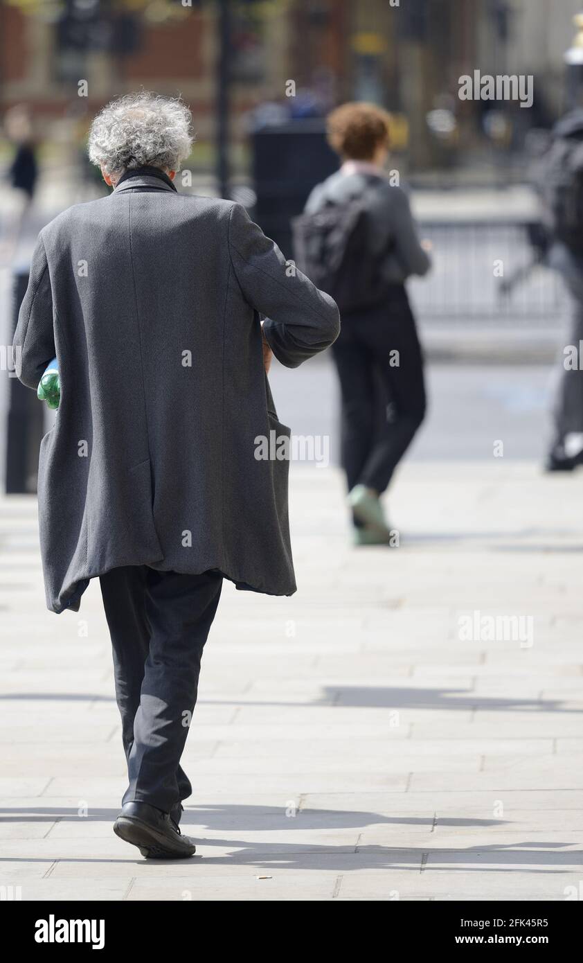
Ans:
[[[260,313],[288,367],[338,335],[335,302],[239,204],[138,173],[42,229],[14,352],[31,388],[53,357],[61,370],[38,469],[50,610],[77,612],[89,579],[118,565],[295,590],[289,461],[257,456],[258,439],[290,434]]]

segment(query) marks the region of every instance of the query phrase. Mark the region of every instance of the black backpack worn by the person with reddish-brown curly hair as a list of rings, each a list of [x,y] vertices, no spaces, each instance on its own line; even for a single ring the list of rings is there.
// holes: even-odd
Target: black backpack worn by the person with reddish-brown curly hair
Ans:
[[[387,291],[381,268],[393,241],[379,255],[371,255],[369,210],[373,202],[373,193],[366,190],[342,203],[328,200],[316,213],[291,221],[297,267],[334,298],[343,312],[372,307]]]

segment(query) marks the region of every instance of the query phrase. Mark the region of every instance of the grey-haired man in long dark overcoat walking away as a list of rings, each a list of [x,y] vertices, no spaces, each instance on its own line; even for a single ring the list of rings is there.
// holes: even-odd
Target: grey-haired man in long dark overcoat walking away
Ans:
[[[295,591],[289,464],[257,457],[258,437],[290,433],[265,367],[339,332],[335,302],[239,204],[176,190],[190,122],[144,92],[95,117],[113,194],[42,229],[14,336],[24,384],[54,357],[61,373],[38,469],[47,606],[77,612],[99,577],[129,775],[114,831],[165,858],[195,850],[180,758],[222,580]]]

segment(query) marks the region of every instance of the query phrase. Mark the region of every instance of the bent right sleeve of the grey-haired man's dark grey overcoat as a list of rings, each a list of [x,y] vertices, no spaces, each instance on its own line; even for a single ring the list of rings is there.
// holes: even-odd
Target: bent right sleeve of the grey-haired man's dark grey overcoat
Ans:
[[[286,262],[241,204],[231,208],[229,249],[244,299],[266,315],[264,334],[278,361],[296,368],[336,340],[336,302]]]

